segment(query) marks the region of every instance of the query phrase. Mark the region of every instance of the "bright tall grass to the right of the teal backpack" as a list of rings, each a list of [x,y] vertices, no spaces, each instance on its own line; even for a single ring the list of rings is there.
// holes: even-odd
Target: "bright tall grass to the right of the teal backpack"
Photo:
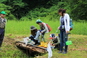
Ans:
[[[87,27],[86,27],[87,22],[86,21],[79,21],[79,22],[74,21],[73,24],[74,24],[74,28],[71,31],[71,33],[87,35],[87,32],[86,32],[87,31]]]

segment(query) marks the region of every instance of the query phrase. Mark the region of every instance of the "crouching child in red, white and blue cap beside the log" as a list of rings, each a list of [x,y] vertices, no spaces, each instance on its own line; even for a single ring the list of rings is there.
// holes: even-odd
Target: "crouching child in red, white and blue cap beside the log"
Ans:
[[[55,36],[55,34],[50,34],[50,38],[52,42],[52,46],[55,46],[54,48],[60,49],[60,40],[58,36]]]

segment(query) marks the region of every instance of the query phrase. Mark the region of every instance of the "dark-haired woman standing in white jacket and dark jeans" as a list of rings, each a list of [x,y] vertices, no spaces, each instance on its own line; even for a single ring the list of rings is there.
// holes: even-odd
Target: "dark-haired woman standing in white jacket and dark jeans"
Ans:
[[[70,16],[66,13],[65,9],[59,9],[58,14],[60,17],[60,51],[59,53],[66,54],[68,50],[68,45],[66,45],[66,41],[68,41],[68,33],[70,31]]]

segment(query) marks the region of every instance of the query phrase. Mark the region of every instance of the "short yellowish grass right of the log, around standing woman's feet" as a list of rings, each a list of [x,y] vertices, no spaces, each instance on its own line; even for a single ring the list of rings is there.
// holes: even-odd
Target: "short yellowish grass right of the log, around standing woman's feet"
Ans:
[[[69,45],[67,54],[59,54],[58,50],[53,50],[52,58],[87,58],[87,36],[84,35],[69,35],[69,40],[73,42]],[[47,54],[44,56],[38,56],[37,58],[47,58]]]

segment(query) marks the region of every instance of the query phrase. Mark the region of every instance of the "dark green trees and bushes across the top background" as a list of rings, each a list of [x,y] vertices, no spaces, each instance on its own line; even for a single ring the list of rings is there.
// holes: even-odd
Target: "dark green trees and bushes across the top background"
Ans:
[[[40,17],[57,20],[58,9],[64,8],[73,20],[86,20],[86,2],[87,0],[1,0],[0,11],[5,10],[9,20],[33,20]]]

